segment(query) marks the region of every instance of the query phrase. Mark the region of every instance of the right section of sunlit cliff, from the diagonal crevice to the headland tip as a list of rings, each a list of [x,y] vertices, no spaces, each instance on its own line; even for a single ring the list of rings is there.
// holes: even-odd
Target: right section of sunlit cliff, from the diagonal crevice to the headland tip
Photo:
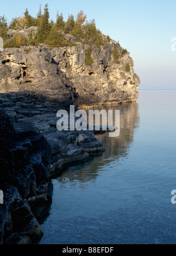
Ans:
[[[53,59],[59,63],[59,69],[66,73],[79,95],[79,106],[133,102],[138,99],[140,79],[134,73],[133,59],[129,53],[125,53],[120,56],[120,63],[116,64],[113,58],[115,43],[110,41],[106,47],[100,48],[92,46],[92,67],[85,65],[89,45],[77,43],[72,48],[52,50]],[[119,52],[121,50],[119,45]],[[130,72],[126,72],[127,63],[130,64]]]

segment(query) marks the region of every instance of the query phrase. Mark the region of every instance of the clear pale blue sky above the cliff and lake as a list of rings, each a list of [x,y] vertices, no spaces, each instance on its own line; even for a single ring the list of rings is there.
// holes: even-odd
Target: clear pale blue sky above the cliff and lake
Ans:
[[[54,21],[57,11],[65,20],[69,14],[76,17],[80,10],[88,20],[95,19],[101,32],[130,52],[140,89],[176,89],[175,0],[8,0],[2,2],[0,16],[11,21],[26,8],[36,16],[39,5],[43,9],[46,3]]]

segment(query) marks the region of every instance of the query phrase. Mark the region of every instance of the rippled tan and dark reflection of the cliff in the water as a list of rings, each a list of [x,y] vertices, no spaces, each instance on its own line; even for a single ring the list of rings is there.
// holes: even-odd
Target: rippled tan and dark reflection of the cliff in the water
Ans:
[[[128,157],[134,132],[139,127],[138,104],[136,102],[124,103],[115,106],[102,106],[101,109],[120,110],[120,136],[109,137],[109,133],[96,134],[106,151],[90,157],[90,160],[84,164],[69,167],[69,170],[57,178],[60,186],[65,187],[67,182],[71,186],[75,186],[79,181],[79,186],[83,188],[87,181],[96,180],[99,172],[104,170],[106,164],[113,163],[113,161],[117,162],[121,157]]]

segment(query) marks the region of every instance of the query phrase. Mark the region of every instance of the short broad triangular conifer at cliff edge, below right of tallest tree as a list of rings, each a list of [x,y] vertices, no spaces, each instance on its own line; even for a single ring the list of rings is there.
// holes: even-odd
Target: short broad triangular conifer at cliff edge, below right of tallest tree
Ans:
[[[53,26],[51,29],[45,43],[53,48],[67,46],[64,35],[57,29],[56,26]]]

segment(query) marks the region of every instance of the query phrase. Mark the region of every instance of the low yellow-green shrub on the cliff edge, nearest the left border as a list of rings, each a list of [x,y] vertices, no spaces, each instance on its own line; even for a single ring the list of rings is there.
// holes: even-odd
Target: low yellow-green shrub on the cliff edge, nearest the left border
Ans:
[[[28,44],[28,39],[22,35],[16,35],[15,37],[7,40],[4,43],[4,48],[20,48],[21,46],[26,46]]]

